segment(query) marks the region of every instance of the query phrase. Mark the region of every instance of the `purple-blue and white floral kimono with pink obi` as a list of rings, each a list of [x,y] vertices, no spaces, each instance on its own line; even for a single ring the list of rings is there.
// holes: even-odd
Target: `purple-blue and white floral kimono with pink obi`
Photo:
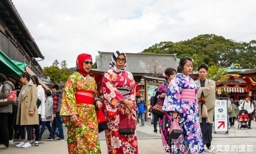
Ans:
[[[184,89],[195,90],[195,95],[192,96],[194,101],[181,100]],[[181,73],[177,73],[168,86],[162,109],[171,113],[178,112],[184,121],[180,124],[182,134],[177,139],[172,139],[173,154],[205,153],[196,97],[198,89],[198,85],[192,78]]]

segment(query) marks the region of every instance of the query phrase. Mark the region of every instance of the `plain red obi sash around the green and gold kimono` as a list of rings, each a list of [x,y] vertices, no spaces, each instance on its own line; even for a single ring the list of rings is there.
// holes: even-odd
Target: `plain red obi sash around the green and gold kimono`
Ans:
[[[90,90],[76,90],[76,104],[94,104],[94,95]]]

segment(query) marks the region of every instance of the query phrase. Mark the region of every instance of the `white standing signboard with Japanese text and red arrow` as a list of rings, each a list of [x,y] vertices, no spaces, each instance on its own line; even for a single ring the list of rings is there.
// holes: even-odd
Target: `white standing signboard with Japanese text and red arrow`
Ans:
[[[214,133],[228,133],[228,120],[227,100],[216,100],[214,108]]]

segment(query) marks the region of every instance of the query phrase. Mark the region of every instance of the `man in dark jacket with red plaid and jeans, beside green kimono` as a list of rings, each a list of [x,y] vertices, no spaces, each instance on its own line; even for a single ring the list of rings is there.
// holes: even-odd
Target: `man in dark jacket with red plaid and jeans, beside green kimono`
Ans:
[[[60,116],[60,107],[62,102],[62,93],[59,91],[59,86],[57,84],[52,85],[52,97],[53,97],[53,121],[52,121],[52,131],[50,137],[46,140],[55,140],[55,131],[58,128],[59,138],[56,141],[64,140],[64,133],[62,127],[62,117]]]

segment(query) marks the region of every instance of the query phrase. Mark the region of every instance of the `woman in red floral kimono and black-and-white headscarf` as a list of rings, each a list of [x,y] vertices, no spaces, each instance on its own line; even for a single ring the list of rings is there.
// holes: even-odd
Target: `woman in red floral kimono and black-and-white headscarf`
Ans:
[[[136,131],[132,135],[119,132],[120,116],[136,123],[135,86],[132,73],[126,71],[126,55],[116,51],[110,61],[110,70],[102,79],[103,108],[108,119],[105,131],[108,154],[138,154]]]

